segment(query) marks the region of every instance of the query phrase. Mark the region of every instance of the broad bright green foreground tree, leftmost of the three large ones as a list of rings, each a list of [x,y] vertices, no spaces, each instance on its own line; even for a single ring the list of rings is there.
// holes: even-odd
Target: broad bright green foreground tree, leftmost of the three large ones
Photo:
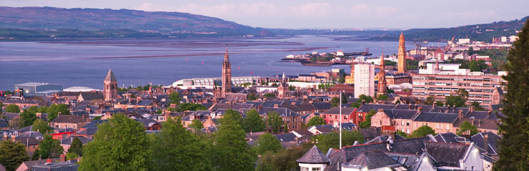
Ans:
[[[97,126],[83,147],[79,170],[147,170],[151,150],[143,125],[118,113]]]

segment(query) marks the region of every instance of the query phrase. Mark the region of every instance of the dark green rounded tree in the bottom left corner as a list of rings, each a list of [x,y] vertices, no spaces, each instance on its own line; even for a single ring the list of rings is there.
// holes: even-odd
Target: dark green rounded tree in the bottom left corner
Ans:
[[[4,165],[6,170],[15,170],[27,160],[29,157],[24,145],[9,140],[0,142],[0,164]]]

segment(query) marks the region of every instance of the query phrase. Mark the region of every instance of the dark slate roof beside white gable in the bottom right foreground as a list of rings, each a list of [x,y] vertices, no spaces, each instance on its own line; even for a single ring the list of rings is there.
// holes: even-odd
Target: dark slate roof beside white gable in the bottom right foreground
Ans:
[[[425,142],[426,152],[435,159],[435,166],[460,167],[459,160],[465,157],[469,145],[443,143],[443,142]]]

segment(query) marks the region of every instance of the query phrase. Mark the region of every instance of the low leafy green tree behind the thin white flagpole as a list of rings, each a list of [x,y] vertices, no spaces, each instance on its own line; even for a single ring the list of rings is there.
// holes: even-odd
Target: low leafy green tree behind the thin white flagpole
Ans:
[[[322,135],[317,135],[315,137],[317,140],[317,147],[326,153],[329,148],[340,149],[340,133],[327,133]],[[359,143],[364,142],[362,134],[357,130],[344,131],[342,130],[342,146],[352,145],[358,141]]]

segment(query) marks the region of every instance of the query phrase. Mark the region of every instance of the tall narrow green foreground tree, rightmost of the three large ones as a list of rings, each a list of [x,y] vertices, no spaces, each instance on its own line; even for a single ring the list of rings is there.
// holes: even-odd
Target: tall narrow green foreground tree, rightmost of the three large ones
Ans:
[[[215,133],[212,159],[216,170],[254,170],[257,155],[246,142],[246,133],[242,130],[236,115],[224,115],[221,125]],[[240,115],[239,115],[240,117]]]

